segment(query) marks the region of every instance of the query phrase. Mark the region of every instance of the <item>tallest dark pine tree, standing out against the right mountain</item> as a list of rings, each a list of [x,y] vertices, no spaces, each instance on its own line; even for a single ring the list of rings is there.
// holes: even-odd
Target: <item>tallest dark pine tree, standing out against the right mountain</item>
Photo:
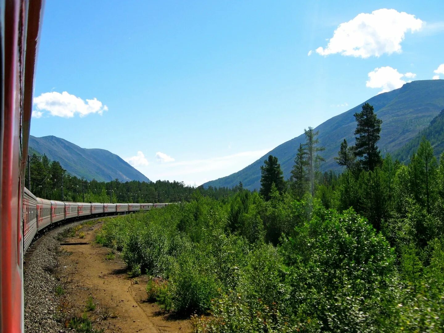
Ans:
[[[376,143],[381,139],[382,120],[373,112],[373,106],[365,103],[360,113],[355,113],[357,127],[355,130],[356,150],[355,156],[362,158],[360,161],[363,170],[372,170],[381,165],[381,152]]]

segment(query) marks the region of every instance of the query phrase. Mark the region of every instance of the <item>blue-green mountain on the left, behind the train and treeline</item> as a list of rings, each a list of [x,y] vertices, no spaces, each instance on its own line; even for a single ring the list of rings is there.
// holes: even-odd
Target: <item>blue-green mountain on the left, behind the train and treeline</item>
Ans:
[[[45,154],[53,161],[59,161],[67,172],[87,180],[109,182],[115,178],[121,182],[139,180],[150,182],[138,170],[119,156],[104,149],[85,149],[56,136],[36,138],[30,135],[29,147]]]

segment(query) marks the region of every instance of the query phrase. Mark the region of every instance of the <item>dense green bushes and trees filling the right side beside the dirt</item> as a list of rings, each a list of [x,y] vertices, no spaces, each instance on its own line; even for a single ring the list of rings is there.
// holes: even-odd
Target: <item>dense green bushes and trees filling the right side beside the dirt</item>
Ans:
[[[341,174],[321,173],[305,131],[285,181],[274,156],[261,191],[109,219],[97,240],[121,251],[148,298],[192,314],[194,332],[442,332],[444,154],[421,139],[408,164],[381,156],[369,104],[344,140]]]

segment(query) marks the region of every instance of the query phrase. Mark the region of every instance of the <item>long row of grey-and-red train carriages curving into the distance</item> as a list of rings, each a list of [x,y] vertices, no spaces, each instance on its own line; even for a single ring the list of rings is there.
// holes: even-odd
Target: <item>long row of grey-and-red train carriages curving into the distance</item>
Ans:
[[[170,203],[69,202],[37,198],[26,187],[23,195],[23,251],[45,230],[64,222],[163,208]]]

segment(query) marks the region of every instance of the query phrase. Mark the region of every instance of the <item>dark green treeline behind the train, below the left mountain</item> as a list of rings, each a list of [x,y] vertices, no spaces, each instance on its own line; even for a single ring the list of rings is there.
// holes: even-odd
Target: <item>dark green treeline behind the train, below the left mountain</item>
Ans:
[[[67,174],[58,161],[49,161],[46,155],[38,157],[35,153],[30,157],[29,169],[31,186],[28,185],[28,168],[26,169],[25,185],[36,197],[73,202],[183,202],[190,201],[191,194],[196,190],[183,182],[98,182],[95,179],[86,181]],[[63,182],[62,182],[63,179]],[[227,198],[234,194],[238,187],[204,189],[199,186],[200,193],[211,198]]]

